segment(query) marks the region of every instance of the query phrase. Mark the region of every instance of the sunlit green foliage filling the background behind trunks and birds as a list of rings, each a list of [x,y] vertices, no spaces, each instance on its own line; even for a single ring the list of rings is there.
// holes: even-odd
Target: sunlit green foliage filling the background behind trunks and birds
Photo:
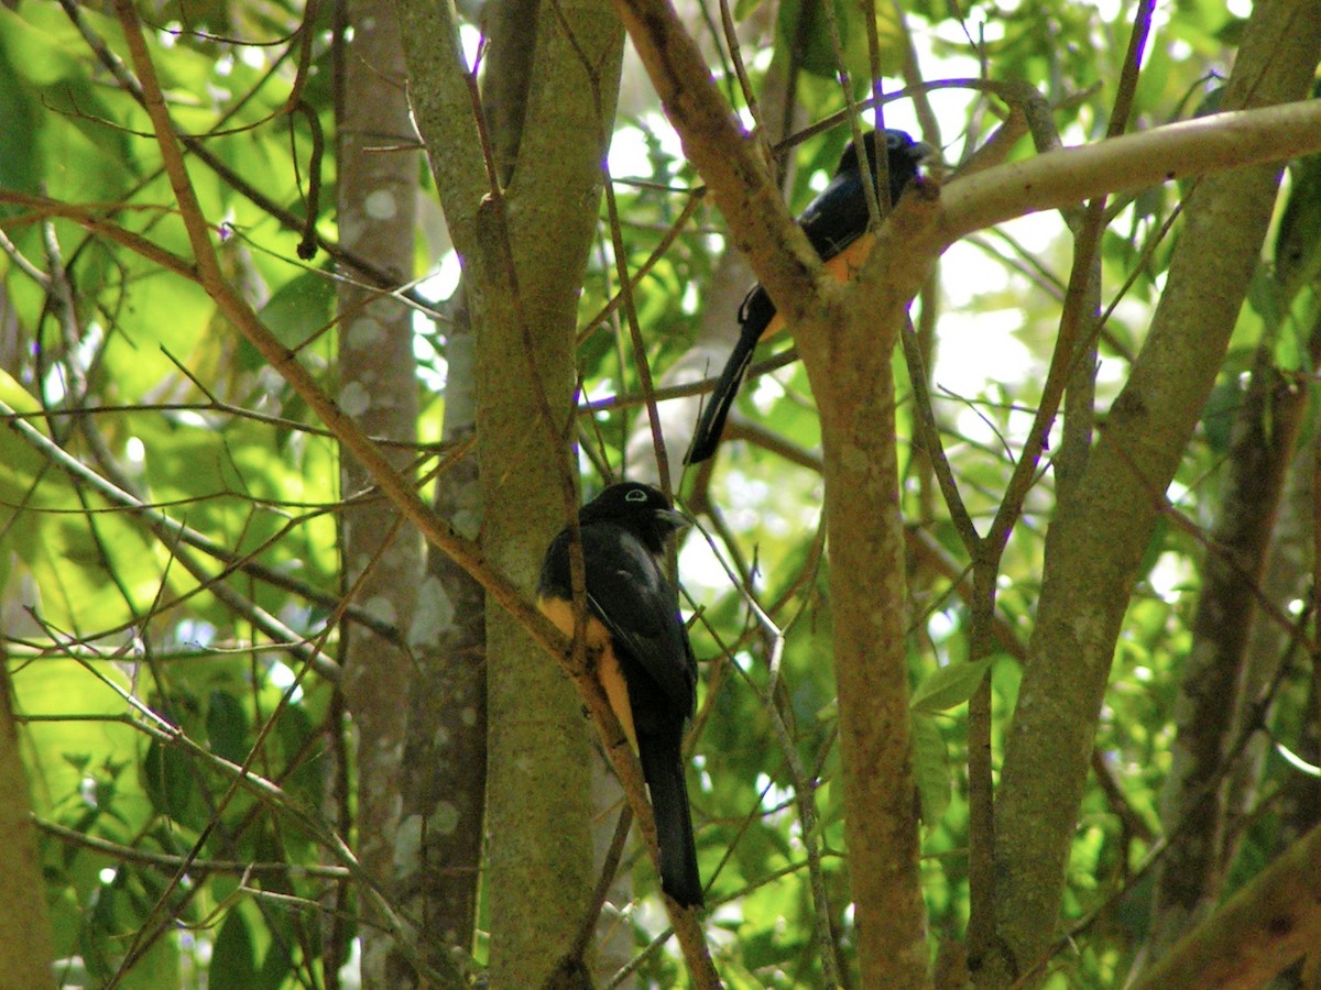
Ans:
[[[306,11],[284,3],[140,7],[159,25],[148,36],[151,55],[174,119],[196,137],[190,174],[227,276],[333,389],[334,265],[324,251],[306,263],[297,256],[299,224],[310,209],[324,240],[336,239],[334,160],[329,150],[313,156],[320,137],[309,127],[314,119],[320,131],[333,131],[329,24],[303,24]],[[754,87],[773,48],[774,58],[787,57],[803,17],[812,26],[802,69],[812,78],[797,88],[801,112],[818,120],[839,111],[824,8],[779,4],[771,20],[766,7],[738,8]],[[917,71],[954,78],[984,63],[993,78],[1038,87],[1067,141],[1104,135],[1131,5],[971,4],[962,21],[952,9],[913,3],[904,20],[880,18],[885,71],[900,71],[898,53],[910,44],[917,69],[906,84],[919,82]],[[350,837],[342,824],[354,810],[332,772],[346,759],[346,729],[317,668],[328,669],[337,649],[337,450],[198,284],[132,249],[128,239],[140,235],[190,256],[151,123],[122,70],[110,67],[125,58],[122,30],[87,7],[77,16],[82,30],[54,4],[0,9],[0,412],[8,424],[0,430],[0,628],[44,836],[59,972],[67,982],[98,985],[190,986],[203,973],[217,987],[316,985],[347,950],[342,937],[328,936],[326,917],[349,908],[347,891],[366,896],[334,838]],[[859,9],[838,4],[835,16],[853,78],[865,79]],[[1149,45],[1132,127],[1188,116],[1209,81],[1225,73],[1239,26],[1222,4],[1170,8]],[[729,75],[721,79],[740,92]],[[295,81],[304,84],[300,112],[287,106]],[[951,164],[1003,110],[972,90],[931,99]],[[886,107],[886,119],[915,129],[910,102]],[[630,401],[643,395],[643,363],[663,385],[703,321],[732,318],[705,310],[724,238],[711,203],[686,215],[699,177],[654,107],[618,127],[621,143],[641,136],[646,154],[612,161],[617,216],[602,216],[581,294],[584,393],[621,397],[584,418],[587,487],[601,482],[606,465],[614,474],[646,470],[627,453],[646,426],[645,407]],[[836,129],[789,153],[794,209],[820,187],[844,140]],[[324,182],[318,202],[308,198],[312,169]],[[1308,203],[1316,202],[1316,169],[1308,169],[1310,182],[1295,194],[1291,218],[1310,216]],[[1103,305],[1114,306],[1099,345],[1102,408],[1125,379],[1164,286],[1180,230],[1176,223],[1166,231],[1165,222],[1182,191],[1165,186],[1122,203],[1102,239]],[[618,306],[612,220],[629,272],[646,272],[633,288],[642,352]],[[938,317],[931,376],[946,455],[982,525],[1000,504],[1041,399],[1067,280],[1065,234],[1063,222],[1049,216],[978,235],[950,252],[946,292],[930,304],[938,312],[922,314]],[[440,264],[420,260],[428,269]],[[1089,785],[1063,906],[1079,948],[1053,964],[1059,986],[1122,979],[1143,944],[1144,863],[1161,828],[1172,825],[1160,821],[1159,795],[1209,552],[1205,535],[1223,479],[1225,414],[1240,401],[1239,376],[1267,342],[1296,387],[1310,387],[1299,341],[1316,319],[1313,292],[1296,281],[1281,305],[1268,263],[1259,285],[1124,620],[1095,742],[1098,774],[1108,780]],[[431,358],[420,360],[424,388],[436,380],[432,372],[445,371],[446,341],[443,326],[421,319],[417,333],[419,354],[431,345],[439,355],[435,367]],[[914,440],[919,400],[900,358],[896,368],[900,498],[913,531],[909,656],[923,884],[933,933],[960,937],[970,911],[963,702],[989,677],[1000,754],[1041,586],[1055,477],[1044,471],[1037,479],[1001,560],[1000,649],[966,663],[967,560]],[[439,436],[439,403],[424,409],[419,436]],[[738,411],[802,450],[818,444],[798,364],[753,381]],[[432,454],[424,445],[417,453],[424,462]],[[707,661],[694,805],[701,874],[717,906],[708,935],[729,986],[811,986],[822,970],[804,843],[823,853],[845,952],[853,937],[844,907],[820,477],[811,455],[786,459],[745,440],[727,442],[720,458],[712,477],[686,479],[684,491],[699,484],[719,507],[723,528],[711,527],[713,543],[737,581],[715,565],[701,536],[682,554],[700,612],[694,645]],[[749,616],[742,593],[782,638]],[[1296,618],[1297,603],[1281,605]],[[768,690],[773,656],[777,680]],[[1300,671],[1273,685],[1267,727],[1291,750],[1306,751],[1299,737],[1314,704],[1312,686]],[[779,729],[791,741],[787,752]],[[803,834],[794,805],[803,768],[819,834]],[[1236,882],[1273,854],[1271,796],[1295,772],[1281,759],[1262,762]],[[647,898],[654,875],[638,863],[634,891]],[[639,952],[653,921],[647,911],[629,921]],[[672,957],[650,954],[643,979],[676,985],[678,968]]]

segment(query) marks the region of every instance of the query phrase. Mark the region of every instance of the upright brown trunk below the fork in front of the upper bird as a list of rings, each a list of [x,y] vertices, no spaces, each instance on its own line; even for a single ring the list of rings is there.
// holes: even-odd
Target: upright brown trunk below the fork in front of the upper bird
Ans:
[[[827,326],[822,323],[820,326]],[[819,329],[818,327],[818,329]],[[822,417],[844,836],[863,986],[929,982],[909,738],[894,379],[871,315],[799,334]]]

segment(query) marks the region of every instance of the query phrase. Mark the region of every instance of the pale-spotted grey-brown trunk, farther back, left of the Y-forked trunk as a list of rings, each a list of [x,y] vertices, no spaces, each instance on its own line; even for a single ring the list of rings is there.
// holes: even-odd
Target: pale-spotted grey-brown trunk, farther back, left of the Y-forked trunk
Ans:
[[[394,273],[412,277],[417,160],[383,153],[407,143],[412,128],[399,30],[382,0],[350,0],[353,38],[341,66],[338,106],[339,240]],[[339,408],[369,434],[416,437],[417,379],[412,351],[412,312],[399,300],[350,281],[339,285]],[[412,454],[390,454],[403,470]],[[342,458],[342,492],[355,502],[342,516],[345,589],[396,628],[407,631],[421,573],[421,550],[399,511],[371,496],[371,479],[353,457]],[[363,498],[366,495],[366,498]],[[411,663],[406,652],[375,634],[346,623],[343,693],[357,730],[357,847],[367,873],[390,884],[395,865],[406,867],[417,847],[396,853],[399,768],[404,751]],[[400,854],[404,854],[400,858]],[[387,986],[391,940],[370,924],[361,929],[365,986]]]

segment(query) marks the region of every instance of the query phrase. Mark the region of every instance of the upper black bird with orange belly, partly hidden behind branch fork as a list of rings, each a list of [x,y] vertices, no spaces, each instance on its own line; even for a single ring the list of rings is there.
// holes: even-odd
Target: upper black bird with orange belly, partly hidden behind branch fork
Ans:
[[[877,174],[880,157],[876,152],[876,131],[863,135],[863,145],[867,148],[867,160],[871,162],[872,174],[880,182]],[[917,169],[922,161],[933,154],[931,147],[914,141],[902,131],[882,131],[885,135],[885,162],[889,173],[890,205],[898,202],[900,195],[917,177]],[[880,194],[880,189],[877,189]],[[820,255],[826,268],[839,279],[845,281],[849,273],[856,271],[872,249],[875,238],[868,236],[871,215],[867,210],[867,190],[863,183],[863,169],[857,162],[857,147],[852,143],[840,156],[835,177],[812,199],[807,209],[798,216],[798,226],[803,228],[808,243]],[[748,366],[752,364],[752,354],[757,342],[764,337],[778,333],[785,321],[775,313],[775,304],[758,282],[744,298],[738,308],[738,342],[734,345],[725,362],[725,370],[711,393],[711,401],[701,413],[697,429],[692,436],[692,445],[683,458],[684,463],[695,465],[705,461],[716,453],[720,434],[725,428],[725,417],[733,405],[738,385],[742,384]]]

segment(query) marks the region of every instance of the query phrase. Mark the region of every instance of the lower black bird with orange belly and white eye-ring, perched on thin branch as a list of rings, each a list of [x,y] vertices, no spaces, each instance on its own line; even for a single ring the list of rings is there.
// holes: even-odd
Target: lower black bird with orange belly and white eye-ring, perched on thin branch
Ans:
[[[579,511],[589,661],[642,762],[660,846],[660,888],[701,906],[701,876],[683,776],[683,725],[692,715],[697,664],[663,570],[664,544],[688,524],[650,484],[612,484]],[[542,612],[575,632],[572,532],[551,541],[536,586]]]

